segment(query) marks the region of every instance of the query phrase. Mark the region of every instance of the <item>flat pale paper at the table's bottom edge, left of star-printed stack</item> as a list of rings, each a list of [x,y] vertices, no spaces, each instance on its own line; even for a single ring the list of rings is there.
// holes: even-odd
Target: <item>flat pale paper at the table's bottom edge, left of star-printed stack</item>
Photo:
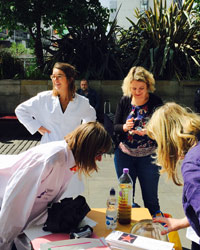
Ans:
[[[81,249],[90,249],[90,248],[102,248],[107,247],[107,244],[104,238],[80,238],[80,239],[73,239],[73,240],[62,240],[62,241],[55,241],[55,242],[48,242],[45,244],[40,245],[41,250],[81,250]]]

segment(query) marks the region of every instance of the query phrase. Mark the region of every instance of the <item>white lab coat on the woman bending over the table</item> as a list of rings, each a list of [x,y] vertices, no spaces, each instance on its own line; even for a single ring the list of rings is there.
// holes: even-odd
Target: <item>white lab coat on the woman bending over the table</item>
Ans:
[[[68,188],[73,166],[65,141],[41,144],[17,156],[0,156],[0,249],[10,250],[28,224],[46,221],[47,204],[58,201]]]

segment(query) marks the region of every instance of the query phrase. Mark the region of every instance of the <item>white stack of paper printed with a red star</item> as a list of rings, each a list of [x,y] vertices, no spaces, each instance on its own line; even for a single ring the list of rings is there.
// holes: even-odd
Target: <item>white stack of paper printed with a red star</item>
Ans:
[[[172,250],[174,243],[113,231],[106,237],[110,248],[124,250]]]

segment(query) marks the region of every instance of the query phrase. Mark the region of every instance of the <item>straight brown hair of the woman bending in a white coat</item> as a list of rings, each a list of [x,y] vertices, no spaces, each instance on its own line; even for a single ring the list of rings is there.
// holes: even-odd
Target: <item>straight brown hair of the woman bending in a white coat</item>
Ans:
[[[73,152],[78,171],[86,175],[98,171],[95,157],[99,153],[108,152],[112,145],[110,135],[99,122],[78,126],[65,136],[65,140]]]

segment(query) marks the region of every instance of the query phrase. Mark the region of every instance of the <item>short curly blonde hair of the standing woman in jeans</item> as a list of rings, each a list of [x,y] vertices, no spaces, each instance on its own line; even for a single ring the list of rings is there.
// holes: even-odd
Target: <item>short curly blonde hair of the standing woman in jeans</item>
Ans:
[[[133,80],[145,82],[147,84],[147,89],[150,92],[155,91],[155,79],[153,75],[141,66],[134,66],[129,70],[128,75],[124,78],[122,83],[122,91],[124,96],[131,97],[130,84]]]

